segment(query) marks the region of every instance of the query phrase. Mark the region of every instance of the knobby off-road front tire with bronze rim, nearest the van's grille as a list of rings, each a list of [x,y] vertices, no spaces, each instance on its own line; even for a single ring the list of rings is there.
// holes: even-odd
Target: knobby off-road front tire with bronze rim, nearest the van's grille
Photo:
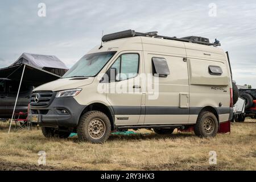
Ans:
[[[105,125],[105,131],[100,136],[100,138],[93,138],[93,129],[89,127],[92,125],[93,121],[103,122],[101,125]],[[90,126],[89,126],[90,125]],[[103,143],[109,138],[111,132],[111,123],[106,116],[106,114],[101,111],[88,111],[83,114],[79,120],[79,125],[77,126],[77,136],[81,142],[89,141],[92,143]]]

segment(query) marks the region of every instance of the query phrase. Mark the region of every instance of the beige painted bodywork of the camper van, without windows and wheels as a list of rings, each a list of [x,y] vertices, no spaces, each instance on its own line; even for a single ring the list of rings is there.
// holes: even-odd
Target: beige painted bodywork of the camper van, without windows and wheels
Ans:
[[[138,73],[152,74],[152,57],[166,59],[170,75],[159,77],[158,97],[151,100],[151,90],[146,77],[136,82],[141,88],[128,88],[134,93],[101,93],[99,88],[116,89],[126,87],[138,77],[119,82],[100,82],[101,77],[89,77],[85,80],[61,78],[39,86],[34,91],[81,88],[75,97],[78,104],[88,106],[100,103],[113,110],[115,126],[131,125],[167,125],[195,124],[200,110],[211,107],[217,111],[219,122],[228,121],[230,109],[230,88],[232,80],[225,52],[217,47],[185,43],[175,40],[135,36],[111,40],[97,46],[89,53],[116,51],[112,59],[101,69],[98,75],[108,71],[123,53],[139,54]],[[100,48],[100,49],[99,49]],[[221,76],[212,76],[209,65],[221,67]],[[151,76],[154,79],[154,76]],[[129,86],[133,84],[129,84]]]

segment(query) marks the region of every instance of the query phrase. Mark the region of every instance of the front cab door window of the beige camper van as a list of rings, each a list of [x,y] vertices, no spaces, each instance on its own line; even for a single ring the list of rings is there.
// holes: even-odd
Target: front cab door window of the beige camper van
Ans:
[[[127,80],[138,75],[139,55],[137,53],[125,53],[115,60],[111,68],[117,69],[117,81]]]

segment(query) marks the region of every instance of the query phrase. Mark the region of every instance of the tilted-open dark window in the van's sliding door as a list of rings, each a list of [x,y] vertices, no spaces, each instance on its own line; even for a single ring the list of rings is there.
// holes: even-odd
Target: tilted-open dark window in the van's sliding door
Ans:
[[[152,68],[154,76],[167,77],[167,75],[170,75],[167,61],[163,57],[152,57]]]

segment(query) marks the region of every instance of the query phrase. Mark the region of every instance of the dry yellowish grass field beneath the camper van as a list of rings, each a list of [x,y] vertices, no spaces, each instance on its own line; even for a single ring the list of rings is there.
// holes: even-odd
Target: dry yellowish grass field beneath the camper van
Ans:
[[[104,144],[46,139],[36,128],[7,134],[8,124],[0,122],[0,170],[256,170],[255,121],[232,123],[231,134],[215,138],[139,130]],[[46,166],[38,165],[39,151],[46,151]],[[217,152],[216,165],[208,163],[209,151]]]

